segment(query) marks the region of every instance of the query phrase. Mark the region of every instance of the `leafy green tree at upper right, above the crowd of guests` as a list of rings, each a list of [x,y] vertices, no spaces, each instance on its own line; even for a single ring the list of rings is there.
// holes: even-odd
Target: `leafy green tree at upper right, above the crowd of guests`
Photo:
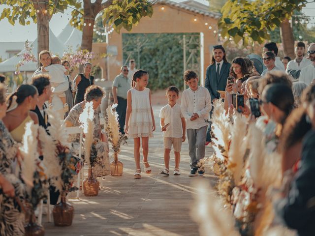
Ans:
[[[221,35],[262,43],[270,39],[269,31],[280,28],[284,54],[294,57],[294,36],[289,19],[293,11],[301,11],[307,0],[228,0],[222,7],[219,22]]]

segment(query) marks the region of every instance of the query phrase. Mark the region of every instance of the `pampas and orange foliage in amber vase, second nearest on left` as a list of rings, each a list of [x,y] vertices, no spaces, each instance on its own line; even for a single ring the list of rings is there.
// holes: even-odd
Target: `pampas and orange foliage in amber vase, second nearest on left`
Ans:
[[[49,134],[39,127],[39,139],[43,150],[43,164],[50,183],[59,190],[61,202],[54,206],[53,217],[56,226],[72,224],[74,208],[66,202],[66,195],[77,190],[73,185],[77,175],[79,159],[71,154],[66,142],[66,132],[62,121],[48,111],[50,126]]]

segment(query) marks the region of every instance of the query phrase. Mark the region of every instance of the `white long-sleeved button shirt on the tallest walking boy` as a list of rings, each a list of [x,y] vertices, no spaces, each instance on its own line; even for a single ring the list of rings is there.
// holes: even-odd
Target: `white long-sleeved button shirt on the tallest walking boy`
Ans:
[[[190,88],[183,91],[181,109],[186,118],[187,129],[199,129],[208,125],[205,120],[209,119],[211,108],[211,96],[208,89],[198,86],[196,91]],[[197,113],[199,118],[191,121],[190,118],[194,113]]]

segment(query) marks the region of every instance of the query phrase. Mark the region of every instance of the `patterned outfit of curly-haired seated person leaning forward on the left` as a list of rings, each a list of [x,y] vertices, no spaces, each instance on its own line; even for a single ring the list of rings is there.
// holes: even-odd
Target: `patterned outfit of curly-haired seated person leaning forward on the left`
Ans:
[[[85,106],[85,102],[78,103],[75,105],[69,115],[65,118],[65,120],[71,122],[73,126],[80,126],[79,116],[83,112]],[[93,166],[93,176],[94,177],[102,177],[110,174],[110,164],[108,157],[108,143],[104,143],[100,139],[100,123],[99,123],[99,115],[98,112],[95,111],[94,116],[94,142],[92,146],[92,152],[95,152],[95,164]],[[68,142],[71,143],[71,150],[75,155],[79,154],[79,142],[80,135],[72,134],[69,135]],[[83,153],[83,152],[82,152]],[[93,153],[91,153],[93,156]]]

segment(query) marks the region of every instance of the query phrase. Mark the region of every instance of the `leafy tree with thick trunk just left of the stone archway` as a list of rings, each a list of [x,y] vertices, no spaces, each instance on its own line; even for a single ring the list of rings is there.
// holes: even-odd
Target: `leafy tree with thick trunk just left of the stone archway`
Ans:
[[[102,15],[103,25],[113,26],[119,32],[125,28],[130,31],[137,25],[142,17],[153,14],[152,4],[149,0],[83,0],[80,9],[71,12],[71,24],[83,31],[81,49],[92,51],[93,26],[98,14]]]

